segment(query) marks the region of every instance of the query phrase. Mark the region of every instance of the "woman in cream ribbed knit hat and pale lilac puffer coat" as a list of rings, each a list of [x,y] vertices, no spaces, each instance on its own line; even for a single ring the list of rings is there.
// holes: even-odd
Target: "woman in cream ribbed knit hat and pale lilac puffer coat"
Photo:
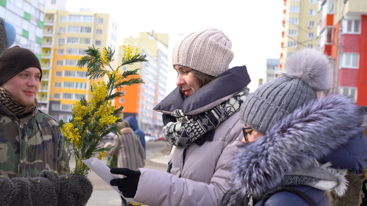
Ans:
[[[231,187],[228,159],[243,137],[239,109],[250,78],[246,66],[228,69],[232,43],[215,28],[180,40],[173,51],[177,88],[153,110],[163,113],[172,149],[167,172],[112,168],[126,197],[146,205],[219,205]]]

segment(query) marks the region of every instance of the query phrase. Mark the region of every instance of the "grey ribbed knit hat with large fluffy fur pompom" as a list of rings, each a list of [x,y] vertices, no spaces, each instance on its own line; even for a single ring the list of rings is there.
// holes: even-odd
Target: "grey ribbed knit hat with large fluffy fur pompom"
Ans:
[[[317,91],[331,86],[327,56],[305,48],[290,56],[283,74],[250,93],[241,106],[241,121],[265,134],[296,108],[317,99]]]

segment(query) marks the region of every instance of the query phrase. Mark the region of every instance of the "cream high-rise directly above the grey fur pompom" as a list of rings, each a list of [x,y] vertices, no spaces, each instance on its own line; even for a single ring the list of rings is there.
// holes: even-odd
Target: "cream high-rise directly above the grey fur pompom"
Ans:
[[[320,17],[317,12],[317,0],[283,0],[283,42],[280,54],[279,69],[281,70],[286,58],[297,48],[317,47],[317,22]]]

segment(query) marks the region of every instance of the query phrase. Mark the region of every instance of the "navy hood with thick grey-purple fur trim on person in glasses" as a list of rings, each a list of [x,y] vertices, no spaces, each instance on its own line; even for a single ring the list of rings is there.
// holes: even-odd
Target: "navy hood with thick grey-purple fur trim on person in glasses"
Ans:
[[[311,166],[314,158],[331,162],[332,168],[363,172],[367,165],[367,139],[361,133],[365,124],[365,109],[337,94],[296,109],[265,136],[239,146],[232,161],[234,187],[243,194],[260,195],[266,187],[278,186],[294,168]]]

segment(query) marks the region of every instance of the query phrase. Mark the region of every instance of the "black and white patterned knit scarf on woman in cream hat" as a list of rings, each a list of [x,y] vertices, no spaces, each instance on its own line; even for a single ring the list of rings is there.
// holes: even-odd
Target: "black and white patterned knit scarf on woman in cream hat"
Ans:
[[[240,110],[249,91],[250,89],[245,87],[225,102],[203,113],[185,115],[181,109],[174,110],[171,116],[177,121],[168,122],[164,126],[164,139],[177,147],[188,146],[193,142],[200,146],[209,140],[205,138],[207,133],[213,135],[215,128]]]

